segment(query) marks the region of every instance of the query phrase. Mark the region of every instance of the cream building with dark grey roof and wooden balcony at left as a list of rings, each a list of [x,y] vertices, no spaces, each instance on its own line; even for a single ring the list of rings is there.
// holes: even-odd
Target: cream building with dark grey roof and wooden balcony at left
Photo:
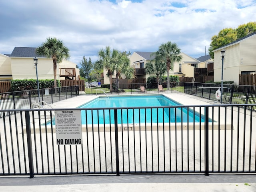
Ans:
[[[0,80],[36,79],[33,58],[38,58],[38,79],[53,79],[52,58],[36,54],[36,48],[15,47],[11,54],[0,54]],[[63,60],[57,64],[57,79],[79,80],[80,72],[76,63]]]

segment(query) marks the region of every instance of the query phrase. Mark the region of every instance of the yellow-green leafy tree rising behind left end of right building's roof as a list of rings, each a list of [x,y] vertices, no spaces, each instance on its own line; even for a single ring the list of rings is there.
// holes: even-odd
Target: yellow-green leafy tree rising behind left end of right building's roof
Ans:
[[[210,47],[208,48],[211,58],[214,58],[213,50],[235,41],[236,38],[236,30],[232,28],[222,29],[220,30],[218,35],[212,36],[212,42],[210,44]]]

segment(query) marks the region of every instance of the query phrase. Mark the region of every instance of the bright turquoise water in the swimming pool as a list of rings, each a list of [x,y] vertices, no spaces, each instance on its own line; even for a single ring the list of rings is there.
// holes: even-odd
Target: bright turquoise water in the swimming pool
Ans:
[[[114,123],[114,110],[100,108],[112,107],[158,107],[178,106],[179,103],[163,95],[157,96],[113,96],[99,97],[79,108],[96,108],[99,110],[82,110],[82,124],[109,124]],[[151,112],[152,111],[152,112]],[[153,108],[153,109],[118,109],[118,124],[125,123],[162,123],[162,122],[204,122],[204,116],[187,110],[187,108]],[[93,118],[92,118],[93,117]],[[122,118],[121,118],[122,117]]]

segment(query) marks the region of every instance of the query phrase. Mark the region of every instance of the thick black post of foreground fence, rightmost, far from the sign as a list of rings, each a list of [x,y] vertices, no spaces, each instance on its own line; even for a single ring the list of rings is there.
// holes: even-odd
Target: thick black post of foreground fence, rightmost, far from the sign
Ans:
[[[205,107],[204,116],[204,175],[209,176],[209,107]]]

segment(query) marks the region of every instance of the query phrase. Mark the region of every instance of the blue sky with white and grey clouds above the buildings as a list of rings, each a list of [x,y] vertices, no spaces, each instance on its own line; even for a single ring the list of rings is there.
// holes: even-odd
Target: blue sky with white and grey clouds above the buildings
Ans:
[[[223,28],[256,21],[255,0],[0,0],[0,8],[1,54],[51,36],[77,64],[106,46],[154,52],[167,41],[198,58]]]

